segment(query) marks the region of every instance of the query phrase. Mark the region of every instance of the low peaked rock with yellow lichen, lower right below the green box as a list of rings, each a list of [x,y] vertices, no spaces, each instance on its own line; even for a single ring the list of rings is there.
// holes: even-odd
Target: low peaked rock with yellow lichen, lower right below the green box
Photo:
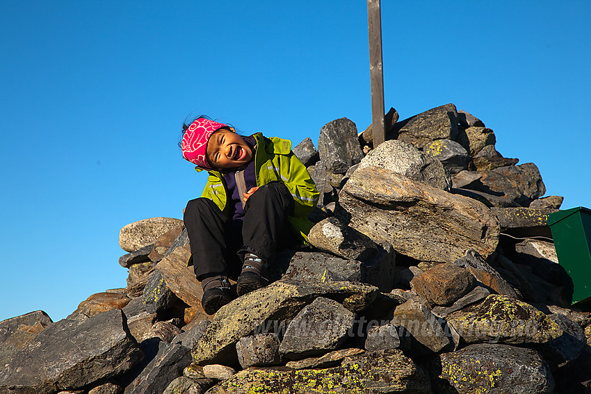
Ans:
[[[466,343],[544,343],[562,335],[556,322],[530,304],[491,294],[480,304],[451,313],[447,321]]]

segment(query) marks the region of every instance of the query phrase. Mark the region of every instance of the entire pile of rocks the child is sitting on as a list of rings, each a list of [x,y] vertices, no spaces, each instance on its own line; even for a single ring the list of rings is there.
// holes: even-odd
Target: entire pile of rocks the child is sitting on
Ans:
[[[386,124],[375,149],[346,118],[293,148],[313,248],[269,286],[207,315],[183,223],[129,224],[127,287],[0,322],[0,393],[590,393],[591,314],[546,222],[562,197],[453,104]]]

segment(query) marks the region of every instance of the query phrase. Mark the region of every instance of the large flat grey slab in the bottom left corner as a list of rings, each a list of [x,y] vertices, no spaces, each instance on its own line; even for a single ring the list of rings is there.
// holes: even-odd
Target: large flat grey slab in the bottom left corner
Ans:
[[[82,388],[122,374],[142,356],[124,329],[120,310],[84,321],[60,320],[0,370],[0,392],[42,394]]]

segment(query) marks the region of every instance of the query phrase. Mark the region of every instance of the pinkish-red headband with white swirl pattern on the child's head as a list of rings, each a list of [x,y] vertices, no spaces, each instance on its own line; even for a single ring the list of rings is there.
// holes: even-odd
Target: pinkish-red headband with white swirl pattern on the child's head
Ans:
[[[188,126],[187,131],[185,131],[181,144],[183,157],[205,170],[211,170],[205,153],[207,141],[211,137],[211,134],[213,134],[213,131],[221,127],[227,127],[227,125],[205,118],[197,119],[191,123],[191,126]]]

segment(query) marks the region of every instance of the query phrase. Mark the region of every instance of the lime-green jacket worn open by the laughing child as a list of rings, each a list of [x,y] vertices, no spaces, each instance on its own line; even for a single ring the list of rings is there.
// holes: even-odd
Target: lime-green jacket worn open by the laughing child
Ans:
[[[262,133],[253,134],[257,140],[254,152],[254,168],[257,174],[257,186],[278,181],[289,189],[295,202],[293,216],[289,224],[293,232],[307,243],[307,235],[313,226],[308,214],[318,202],[318,190],[310,178],[308,170],[291,151],[291,141],[282,138],[266,138]],[[195,167],[195,170],[201,171]],[[211,199],[220,210],[229,216],[227,204],[228,190],[223,175],[218,171],[209,171],[209,178],[201,197]]]

